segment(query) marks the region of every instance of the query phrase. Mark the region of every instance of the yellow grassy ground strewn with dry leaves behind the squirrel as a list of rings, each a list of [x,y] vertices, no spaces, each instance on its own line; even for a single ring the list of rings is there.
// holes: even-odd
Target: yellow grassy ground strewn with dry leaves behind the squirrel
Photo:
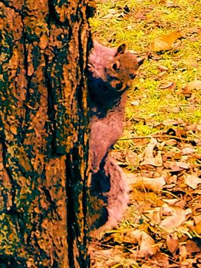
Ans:
[[[94,38],[147,60],[128,92],[112,156],[127,214],[95,243],[92,267],[201,267],[201,2],[99,1]]]

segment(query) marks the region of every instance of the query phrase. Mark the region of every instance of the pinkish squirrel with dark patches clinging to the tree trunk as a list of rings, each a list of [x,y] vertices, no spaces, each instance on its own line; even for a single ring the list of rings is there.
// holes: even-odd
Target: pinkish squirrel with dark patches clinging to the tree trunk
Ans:
[[[109,150],[123,132],[126,90],[143,58],[125,50],[125,44],[109,48],[94,41],[88,58],[89,163],[92,236],[114,227],[127,208],[128,190],[123,171],[109,157]]]

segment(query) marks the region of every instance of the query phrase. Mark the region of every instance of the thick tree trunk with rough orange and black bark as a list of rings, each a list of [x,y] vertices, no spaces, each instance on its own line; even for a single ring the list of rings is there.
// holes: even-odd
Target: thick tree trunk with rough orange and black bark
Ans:
[[[0,267],[89,267],[87,2],[0,1]]]

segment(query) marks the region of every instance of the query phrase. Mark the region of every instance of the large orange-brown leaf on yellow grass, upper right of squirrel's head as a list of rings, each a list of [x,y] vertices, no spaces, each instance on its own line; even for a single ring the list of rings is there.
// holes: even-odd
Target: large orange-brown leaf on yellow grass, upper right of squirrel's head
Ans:
[[[164,34],[154,40],[154,43],[151,44],[151,49],[155,52],[173,49],[173,43],[181,36],[182,34],[180,31]]]

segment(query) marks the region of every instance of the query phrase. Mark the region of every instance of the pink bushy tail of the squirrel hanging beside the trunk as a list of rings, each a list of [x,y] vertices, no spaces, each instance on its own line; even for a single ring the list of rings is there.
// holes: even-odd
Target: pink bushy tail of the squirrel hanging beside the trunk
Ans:
[[[101,232],[115,227],[129,201],[125,175],[112,158],[108,156],[105,159],[104,166],[97,172],[97,176],[94,176],[92,181],[92,195],[97,194],[96,202],[99,206],[96,208],[99,216],[94,224],[94,230],[90,233],[92,237],[97,237]]]

